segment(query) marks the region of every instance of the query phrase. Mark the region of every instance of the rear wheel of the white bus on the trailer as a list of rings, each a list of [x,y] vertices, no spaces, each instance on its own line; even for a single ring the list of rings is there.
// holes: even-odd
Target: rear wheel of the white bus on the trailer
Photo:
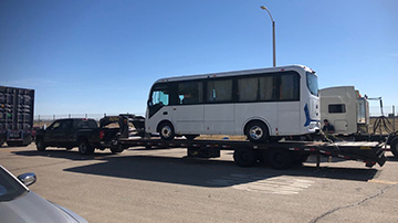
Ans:
[[[266,125],[260,120],[250,121],[244,128],[244,135],[251,142],[264,142],[270,139]]]

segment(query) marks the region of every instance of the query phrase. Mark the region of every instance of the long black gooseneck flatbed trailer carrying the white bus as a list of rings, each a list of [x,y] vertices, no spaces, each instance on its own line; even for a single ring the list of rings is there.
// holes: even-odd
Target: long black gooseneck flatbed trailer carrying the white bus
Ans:
[[[104,120],[109,119],[105,117]],[[151,147],[158,148],[186,148],[190,158],[218,158],[221,150],[232,150],[233,160],[240,167],[251,167],[259,162],[269,163],[274,169],[287,169],[294,163],[306,161],[310,155],[316,155],[317,167],[321,156],[338,157],[346,160],[365,162],[366,167],[380,167],[387,161],[384,153],[384,144],[376,141],[354,142],[324,142],[324,141],[269,141],[254,144],[249,140],[189,140],[184,137],[174,140],[163,140],[154,135],[145,134],[144,119],[140,116],[119,115],[111,117],[119,124],[117,138],[111,141],[113,147],[123,151],[126,148]],[[132,125],[135,132],[132,135]]]

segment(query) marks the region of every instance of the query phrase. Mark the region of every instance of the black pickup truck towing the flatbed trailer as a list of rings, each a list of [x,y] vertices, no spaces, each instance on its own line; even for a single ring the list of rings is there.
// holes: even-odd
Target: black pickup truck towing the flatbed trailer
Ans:
[[[35,144],[39,151],[46,147],[66,148],[78,147],[82,155],[92,155],[101,146],[101,128],[94,119],[65,118],[54,120],[48,128],[35,134]]]

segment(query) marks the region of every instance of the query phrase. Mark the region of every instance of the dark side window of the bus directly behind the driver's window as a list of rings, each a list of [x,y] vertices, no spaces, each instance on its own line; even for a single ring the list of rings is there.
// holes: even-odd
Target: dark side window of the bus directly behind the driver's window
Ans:
[[[178,99],[180,105],[203,103],[203,84],[201,82],[182,82],[178,84]]]

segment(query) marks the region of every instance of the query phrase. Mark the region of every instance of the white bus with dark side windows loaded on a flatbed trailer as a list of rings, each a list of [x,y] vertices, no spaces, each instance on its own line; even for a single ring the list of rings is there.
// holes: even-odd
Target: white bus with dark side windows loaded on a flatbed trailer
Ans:
[[[147,103],[145,128],[175,136],[245,135],[250,141],[320,129],[315,72],[302,65],[161,78]]]

